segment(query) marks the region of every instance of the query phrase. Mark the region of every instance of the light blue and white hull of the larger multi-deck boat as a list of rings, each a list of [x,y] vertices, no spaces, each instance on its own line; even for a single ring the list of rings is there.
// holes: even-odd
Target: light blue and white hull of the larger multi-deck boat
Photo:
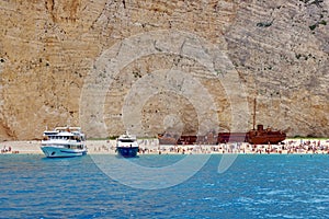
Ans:
[[[44,146],[41,149],[47,158],[72,158],[87,154],[87,149],[68,149],[52,146]]]

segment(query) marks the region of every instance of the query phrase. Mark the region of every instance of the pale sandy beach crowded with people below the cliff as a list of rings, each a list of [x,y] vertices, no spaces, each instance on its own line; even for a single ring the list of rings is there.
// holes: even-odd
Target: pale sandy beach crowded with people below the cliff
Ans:
[[[286,139],[283,145],[184,145],[164,146],[157,139],[139,139],[139,154],[200,154],[200,153],[239,153],[239,154],[329,154],[328,139]],[[115,140],[87,140],[89,154],[115,154]],[[43,154],[41,141],[3,141],[0,154],[23,153]]]

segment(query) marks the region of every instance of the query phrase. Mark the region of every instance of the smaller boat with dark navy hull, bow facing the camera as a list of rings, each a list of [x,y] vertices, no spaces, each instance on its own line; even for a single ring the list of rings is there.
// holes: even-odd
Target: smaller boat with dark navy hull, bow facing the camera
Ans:
[[[137,155],[139,146],[136,136],[124,134],[116,139],[116,151],[124,158],[134,158]]]

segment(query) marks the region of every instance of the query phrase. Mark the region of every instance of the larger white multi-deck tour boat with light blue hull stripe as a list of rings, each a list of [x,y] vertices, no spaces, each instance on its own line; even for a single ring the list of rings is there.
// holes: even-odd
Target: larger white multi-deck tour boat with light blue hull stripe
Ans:
[[[87,154],[86,136],[80,127],[56,127],[45,130],[42,151],[47,158],[69,158]]]

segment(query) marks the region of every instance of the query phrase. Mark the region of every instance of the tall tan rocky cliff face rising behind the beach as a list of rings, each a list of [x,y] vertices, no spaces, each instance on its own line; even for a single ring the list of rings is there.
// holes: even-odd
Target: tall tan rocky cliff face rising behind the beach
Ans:
[[[1,1],[0,140],[252,127],[329,136],[329,3]],[[238,77],[238,78],[236,78]],[[137,124],[137,125],[136,125]]]

